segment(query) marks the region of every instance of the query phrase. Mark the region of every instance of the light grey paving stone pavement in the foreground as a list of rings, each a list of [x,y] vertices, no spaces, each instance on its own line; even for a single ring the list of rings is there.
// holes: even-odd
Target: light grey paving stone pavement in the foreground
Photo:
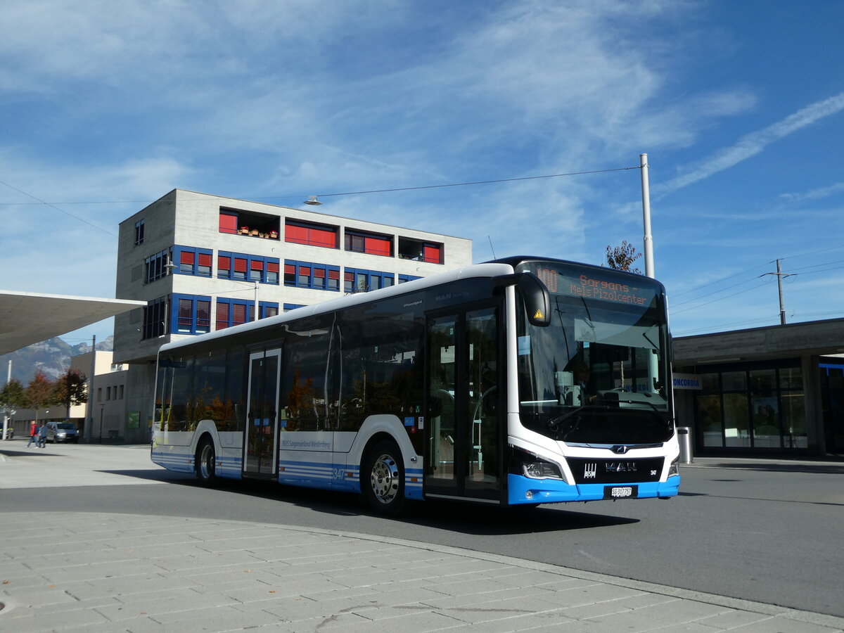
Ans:
[[[313,528],[0,512],[0,533],[3,633],[844,630],[832,616]],[[61,551],[43,547],[59,536]]]

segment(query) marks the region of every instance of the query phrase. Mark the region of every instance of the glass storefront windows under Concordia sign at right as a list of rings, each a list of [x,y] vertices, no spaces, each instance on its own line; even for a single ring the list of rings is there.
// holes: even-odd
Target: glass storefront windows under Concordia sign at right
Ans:
[[[782,366],[724,367],[699,377],[696,444],[704,451],[808,448],[798,360]]]

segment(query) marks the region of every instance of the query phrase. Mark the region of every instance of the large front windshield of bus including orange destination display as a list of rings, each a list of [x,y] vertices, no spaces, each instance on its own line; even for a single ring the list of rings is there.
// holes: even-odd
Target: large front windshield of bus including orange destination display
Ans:
[[[663,289],[647,277],[527,262],[551,324],[518,322],[522,424],[568,444],[660,445],[672,436]],[[523,311],[522,311],[523,312]]]

